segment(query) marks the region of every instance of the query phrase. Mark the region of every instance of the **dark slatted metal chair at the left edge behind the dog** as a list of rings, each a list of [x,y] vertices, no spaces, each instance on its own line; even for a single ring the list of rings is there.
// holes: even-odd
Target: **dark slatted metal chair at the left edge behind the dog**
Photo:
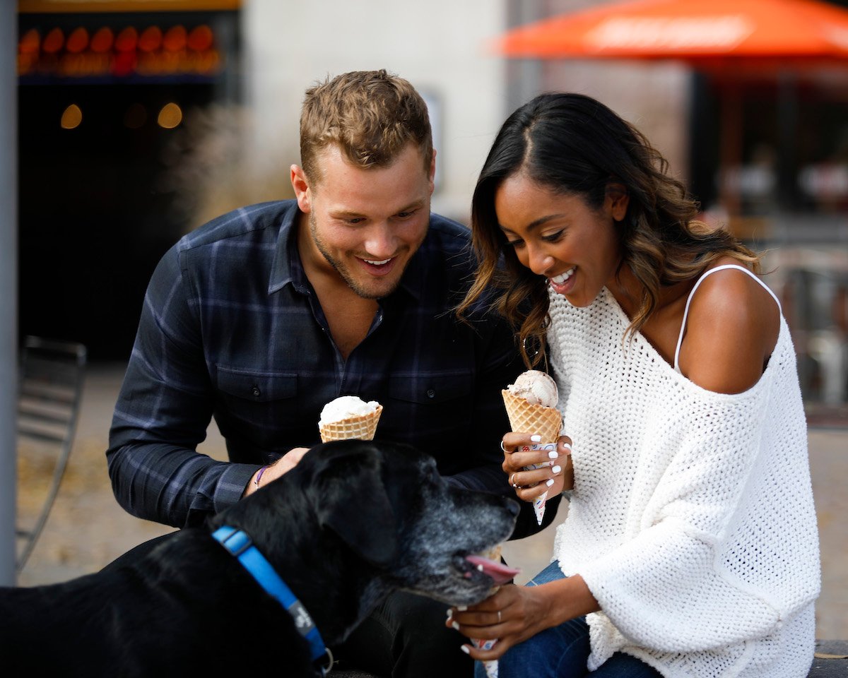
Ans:
[[[19,527],[17,571],[23,570],[59,493],[80,412],[86,347],[27,336],[20,355],[18,454],[53,466],[47,497],[31,528]],[[19,459],[20,463],[20,459]]]

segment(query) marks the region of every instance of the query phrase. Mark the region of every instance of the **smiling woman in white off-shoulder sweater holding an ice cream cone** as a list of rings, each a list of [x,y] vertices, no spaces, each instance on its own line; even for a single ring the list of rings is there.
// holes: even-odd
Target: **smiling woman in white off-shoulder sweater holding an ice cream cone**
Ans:
[[[756,255],[696,221],[666,170],[603,104],[545,94],[506,120],[477,183],[460,313],[499,287],[527,365],[552,368],[567,434],[532,471],[544,459],[516,449],[534,432],[506,434],[503,468],[522,500],[572,491],[530,586],[450,611],[466,636],[499,638],[463,649],[499,659],[500,678],[779,678],[812,662],[817,528],[789,330]]]

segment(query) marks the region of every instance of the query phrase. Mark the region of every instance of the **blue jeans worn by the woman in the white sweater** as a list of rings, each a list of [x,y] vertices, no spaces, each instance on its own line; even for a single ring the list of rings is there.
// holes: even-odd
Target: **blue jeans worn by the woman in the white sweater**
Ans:
[[[559,564],[551,563],[527,586],[538,586],[563,579]],[[661,674],[643,661],[625,653],[615,653],[592,672],[589,659],[589,625],[585,617],[538,632],[499,660],[499,678],[661,678]],[[474,663],[475,678],[486,678],[480,662]]]

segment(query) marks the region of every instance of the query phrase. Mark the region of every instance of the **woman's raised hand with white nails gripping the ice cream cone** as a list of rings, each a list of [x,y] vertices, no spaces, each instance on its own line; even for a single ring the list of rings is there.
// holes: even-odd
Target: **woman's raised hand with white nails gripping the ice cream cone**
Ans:
[[[556,450],[551,452],[530,449],[539,442],[539,436],[530,433],[507,433],[502,443],[504,464],[501,468],[516,496],[525,502],[532,502],[543,492],[555,497],[574,486],[572,439],[561,436]]]

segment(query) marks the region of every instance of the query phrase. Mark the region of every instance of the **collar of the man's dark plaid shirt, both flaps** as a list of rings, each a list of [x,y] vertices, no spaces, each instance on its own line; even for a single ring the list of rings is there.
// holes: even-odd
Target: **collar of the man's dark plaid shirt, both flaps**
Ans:
[[[279,292],[283,287],[292,284],[298,292],[308,292],[311,288],[309,280],[304,271],[304,264],[298,253],[298,219],[303,214],[298,208],[298,203],[292,201],[291,208],[282,215],[280,232],[276,240],[276,252],[271,264],[271,278],[268,281],[268,293]],[[404,275],[400,279],[398,290],[389,297],[394,297],[403,290],[415,299],[421,299],[423,292],[424,274],[427,270],[427,258],[430,253],[430,232],[418,251],[412,255],[410,263],[407,264]]]

